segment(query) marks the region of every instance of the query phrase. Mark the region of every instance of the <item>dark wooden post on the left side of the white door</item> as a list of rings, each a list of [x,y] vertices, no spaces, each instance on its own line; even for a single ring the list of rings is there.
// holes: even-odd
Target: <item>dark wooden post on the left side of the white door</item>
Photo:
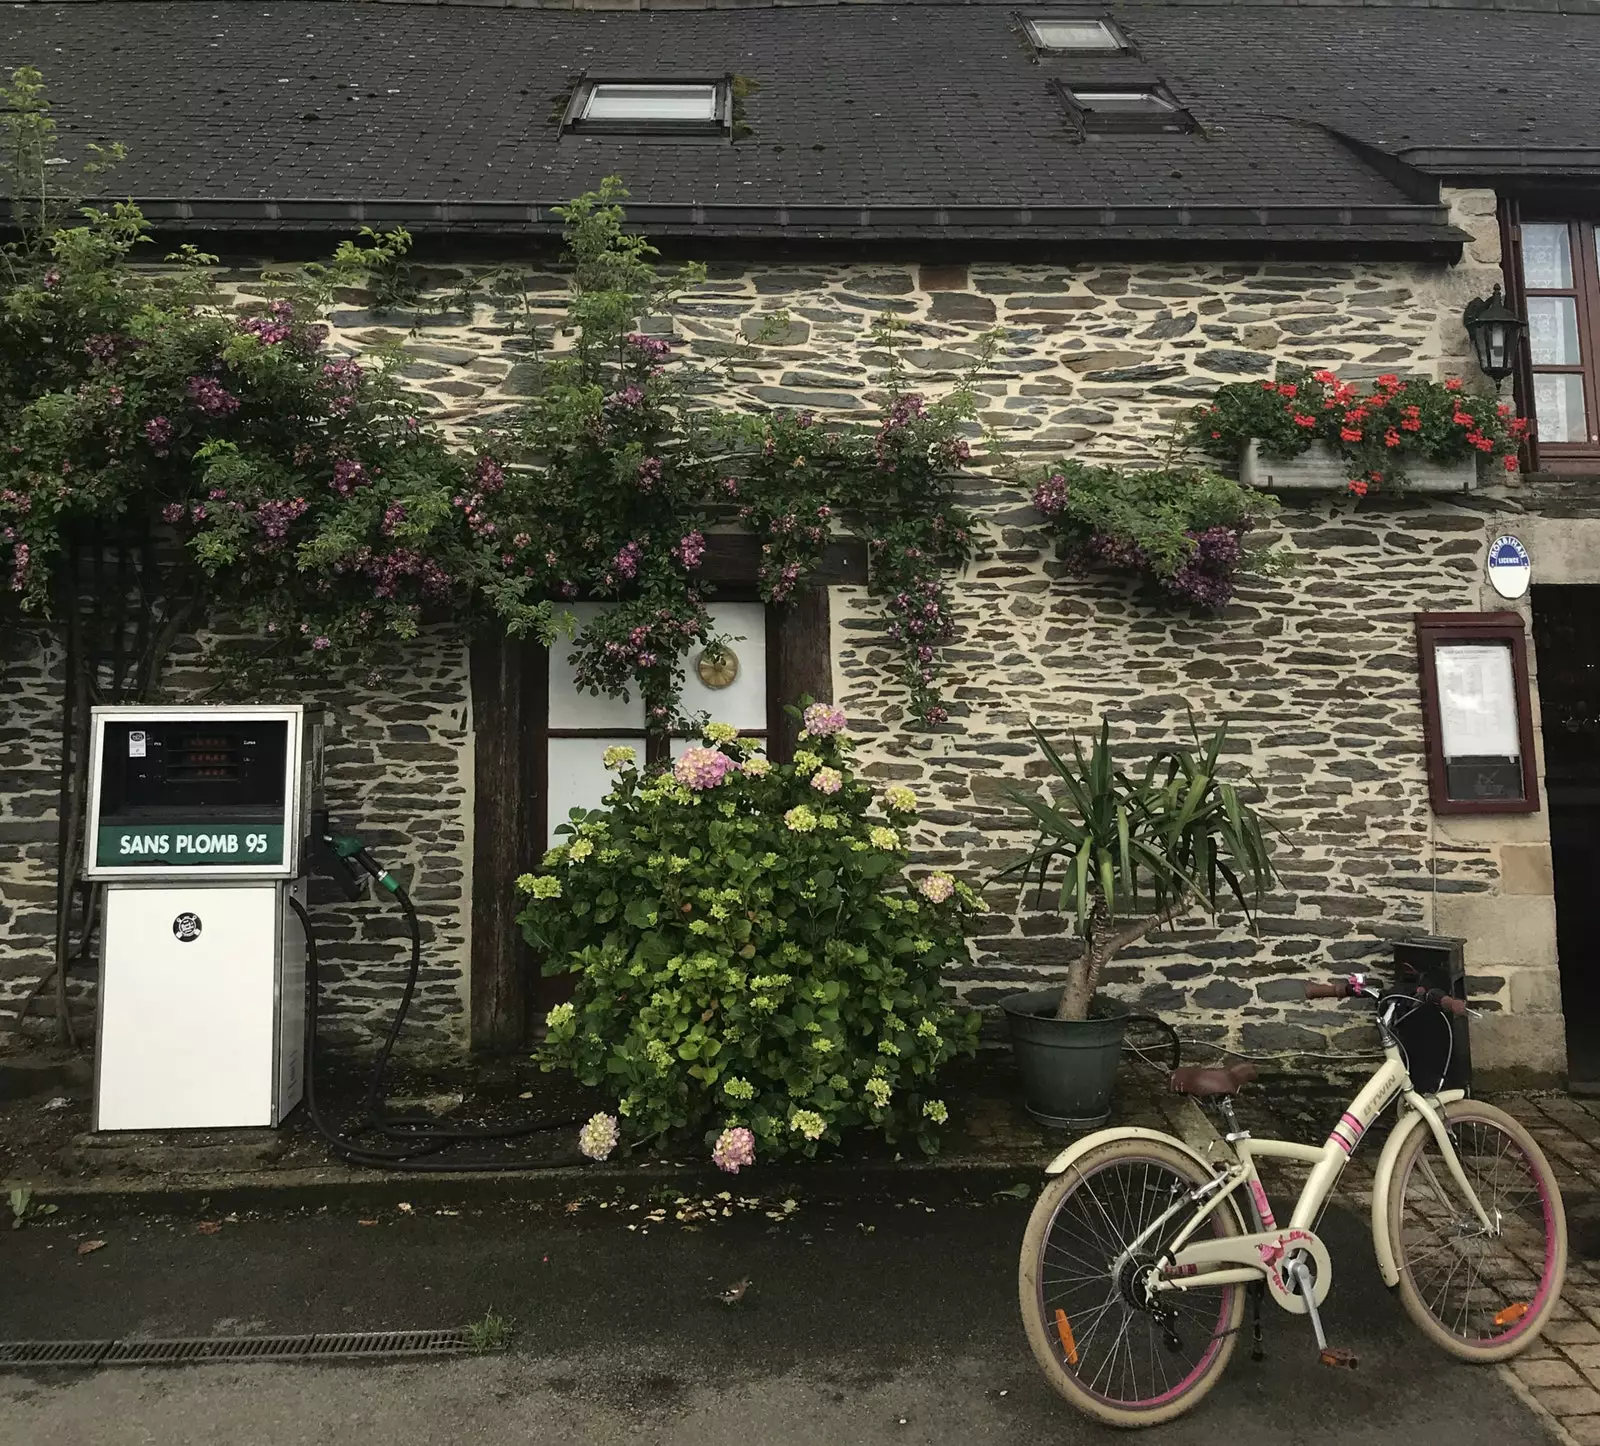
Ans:
[[[528,1041],[534,963],[517,928],[518,873],[530,870],[541,821],[538,768],[546,651],[510,638],[475,641],[472,665],[472,1048]]]

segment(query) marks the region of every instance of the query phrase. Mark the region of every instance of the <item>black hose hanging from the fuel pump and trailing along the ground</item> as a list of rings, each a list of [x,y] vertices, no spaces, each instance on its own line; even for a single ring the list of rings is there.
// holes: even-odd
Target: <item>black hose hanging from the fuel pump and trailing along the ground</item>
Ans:
[[[310,926],[310,915],[306,912],[306,905],[293,894],[288,894],[290,909],[299,917],[301,928],[306,933],[306,1115],[312,1128],[341,1160],[349,1164],[363,1164],[374,1169],[482,1172],[560,1168],[560,1161],[522,1163],[506,1160],[437,1160],[432,1156],[466,1140],[509,1140],[552,1129],[571,1129],[581,1123],[578,1120],[541,1120],[533,1124],[461,1128],[445,1124],[430,1116],[389,1116],[384,1113],[384,1075],[389,1070],[389,1057],[394,1054],[400,1030],[405,1027],[406,1014],[411,1011],[418,977],[422,971],[422,926],[416,917],[416,905],[398,880],[387,878],[386,886],[394,893],[400,909],[405,912],[406,928],[411,934],[411,963],[406,969],[400,1003],[395,1006],[394,1019],[390,1019],[384,1041],[378,1048],[378,1059],[373,1064],[373,1073],[362,1100],[360,1123],[354,1136],[341,1134],[322,1113],[322,1107],[317,1102],[317,1006],[322,995],[317,965],[317,934]],[[378,1134],[382,1139],[362,1139],[362,1136],[370,1134]]]

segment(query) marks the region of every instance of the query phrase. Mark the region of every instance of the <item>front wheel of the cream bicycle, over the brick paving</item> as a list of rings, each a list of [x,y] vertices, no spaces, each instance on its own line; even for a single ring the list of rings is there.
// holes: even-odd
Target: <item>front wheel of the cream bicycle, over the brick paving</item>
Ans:
[[[1544,1152],[1510,1115],[1475,1099],[1443,1107],[1450,1144],[1488,1216],[1461,1193],[1434,1132],[1419,1126],[1389,1182],[1400,1300],[1464,1361],[1502,1361],[1544,1329],[1566,1278],[1566,1212]]]

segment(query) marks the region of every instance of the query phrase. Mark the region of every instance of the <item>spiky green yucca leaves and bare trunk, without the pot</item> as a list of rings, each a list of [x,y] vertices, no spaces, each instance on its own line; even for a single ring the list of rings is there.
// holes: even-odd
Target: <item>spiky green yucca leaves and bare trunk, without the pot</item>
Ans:
[[[1083,953],[1067,974],[1056,1019],[1088,1019],[1107,960],[1150,929],[1202,905],[1216,915],[1229,899],[1254,918],[1277,881],[1270,825],[1218,777],[1226,726],[1197,749],[1162,749],[1138,777],[1117,766],[1106,721],[1088,753],[1072,741],[1070,760],[1037,726],[1032,733],[1059,797],[1011,792],[1038,825],[1038,843],[1002,875],[1037,877],[1040,896],[1059,888],[1059,909]]]

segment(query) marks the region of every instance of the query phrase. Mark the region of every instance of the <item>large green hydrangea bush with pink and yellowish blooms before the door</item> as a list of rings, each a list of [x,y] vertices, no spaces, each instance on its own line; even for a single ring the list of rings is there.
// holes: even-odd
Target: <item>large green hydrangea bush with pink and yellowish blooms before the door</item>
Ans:
[[[610,1096],[622,1140],[701,1134],[728,1171],[851,1128],[938,1147],[939,1069],[978,1029],[942,969],[979,902],[907,875],[917,801],[856,776],[843,713],[802,721],[786,765],[725,725],[670,771],[614,750],[606,806],[518,880],[546,973],[578,976],[544,1067]],[[614,1142],[586,1126],[584,1153]]]

